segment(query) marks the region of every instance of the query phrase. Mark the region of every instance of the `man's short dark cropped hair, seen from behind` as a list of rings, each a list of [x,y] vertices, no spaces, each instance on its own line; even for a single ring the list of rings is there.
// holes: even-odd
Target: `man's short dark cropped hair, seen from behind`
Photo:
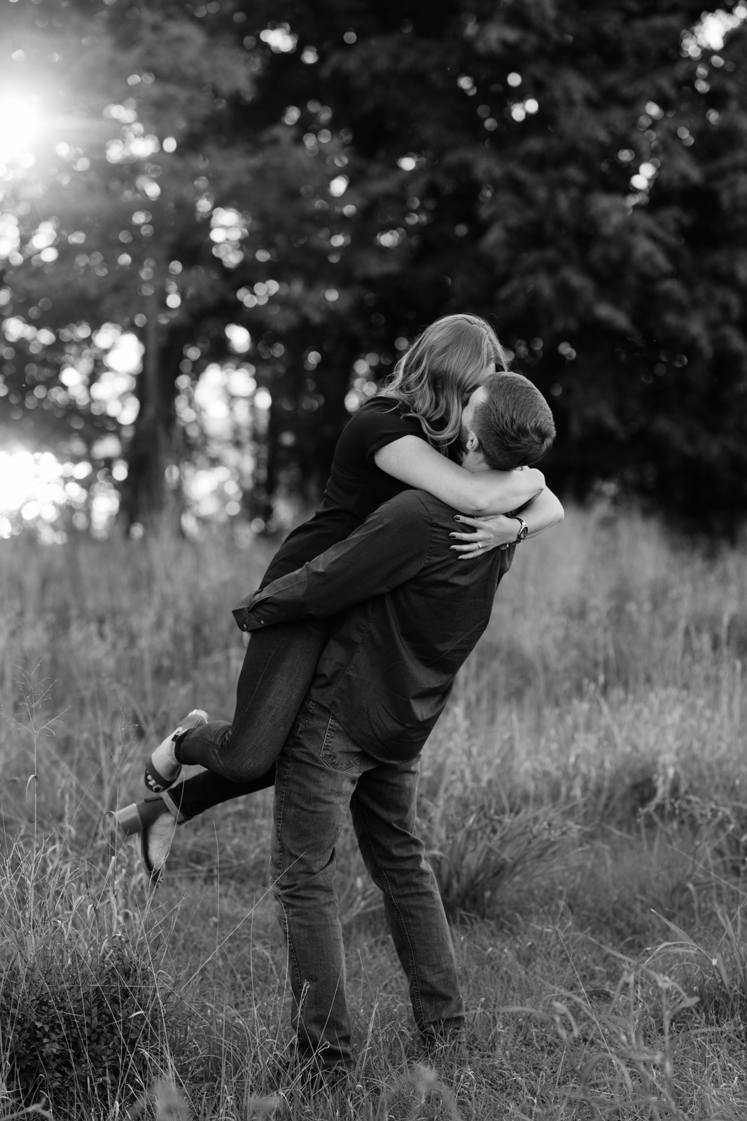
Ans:
[[[486,462],[513,471],[547,455],[555,425],[536,386],[521,373],[496,373],[483,385],[486,397],[475,409],[471,429]]]

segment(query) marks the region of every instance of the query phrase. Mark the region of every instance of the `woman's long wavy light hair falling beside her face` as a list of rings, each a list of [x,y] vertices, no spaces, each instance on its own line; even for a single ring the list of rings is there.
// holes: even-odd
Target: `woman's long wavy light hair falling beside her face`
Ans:
[[[379,392],[408,406],[407,415],[417,417],[428,441],[446,454],[489,362],[508,372],[506,352],[489,323],[477,315],[445,315],[405,351]]]

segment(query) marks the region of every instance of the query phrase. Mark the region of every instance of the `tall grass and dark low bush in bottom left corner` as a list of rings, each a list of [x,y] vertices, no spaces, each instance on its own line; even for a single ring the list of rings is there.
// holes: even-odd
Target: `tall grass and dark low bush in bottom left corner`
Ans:
[[[0,862],[0,1065],[26,1108],[46,1097],[75,1119],[122,1108],[184,1041],[178,998],[122,888],[38,834]]]

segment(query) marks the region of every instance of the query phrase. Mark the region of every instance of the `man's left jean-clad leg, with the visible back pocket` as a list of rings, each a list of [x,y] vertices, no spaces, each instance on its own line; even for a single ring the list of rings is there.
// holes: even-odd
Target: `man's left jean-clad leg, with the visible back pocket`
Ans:
[[[353,1062],[335,845],[358,776],[375,766],[312,701],[278,759],[272,871],[288,939],[291,1020],[299,1053],[321,1068]]]

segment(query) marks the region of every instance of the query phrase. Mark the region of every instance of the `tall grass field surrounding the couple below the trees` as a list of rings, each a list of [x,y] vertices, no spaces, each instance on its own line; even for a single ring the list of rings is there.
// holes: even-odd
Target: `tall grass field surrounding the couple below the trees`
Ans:
[[[419,803],[469,1068],[423,1065],[351,834],[361,1059],[330,1093],[278,1066],[270,796],[178,830],[152,897],[100,832],[179,715],[231,715],[262,548],[1,544],[0,1121],[744,1121],[747,549],[598,509],[517,550]]]

